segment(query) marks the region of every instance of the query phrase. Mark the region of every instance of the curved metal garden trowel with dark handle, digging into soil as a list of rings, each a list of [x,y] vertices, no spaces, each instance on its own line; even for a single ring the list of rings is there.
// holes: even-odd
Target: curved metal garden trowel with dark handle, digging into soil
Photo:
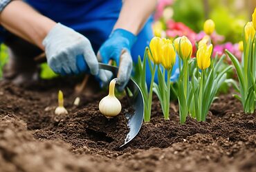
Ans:
[[[99,63],[99,68],[106,69],[112,72],[114,77],[118,75],[118,67]],[[129,103],[131,104],[131,107],[132,109],[134,109],[134,111],[125,114],[128,120],[127,125],[129,127],[129,133],[127,133],[124,144],[122,144],[120,147],[125,146],[125,144],[127,144],[137,136],[138,132],[140,131],[140,127],[143,124],[144,117],[143,94],[141,93],[138,85],[131,78],[129,79],[129,82],[125,87],[125,92],[129,98]]]

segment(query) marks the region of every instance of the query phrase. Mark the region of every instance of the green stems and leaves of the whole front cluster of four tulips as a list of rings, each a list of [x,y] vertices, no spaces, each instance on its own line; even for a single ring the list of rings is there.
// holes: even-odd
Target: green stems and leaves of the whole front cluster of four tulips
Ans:
[[[179,47],[179,49],[181,49],[181,47]],[[188,114],[198,121],[205,121],[210,105],[214,98],[216,98],[221,85],[223,85],[223,83],[235,83],[232,79],[226,79],[232,66],[223,67],[223,59],[226,56],[221,56],[221,58],[213,58],[210,67],[203,70],[200,70],[197,66],[196,58],[181,58],[183,65],[181,65],[181,61],[179,61],[181,74],[175,89],[174,85],[170,83],[172,69],[165,70],[158,64],[158,84],[156,84],[154,83],[156,64],[152,65],[152,62],[149,60],[149,52],[150,50],[147,47],[144,60],[141,61],[141,58],[138,58],[136,75],[134,76],[134,80],[143,92],[143,99],[145,101],[145,122],[150,121],[152,91],[158,96],[165,120],[168,120],[170,116],[170,91],[172,90],[179,100],[180,122],[184,124]],[[152,74],[149,89],[146,83],[147,63],[149,64],[149,69]],[[167,81],[165,80],[165,75],[167,75]]]

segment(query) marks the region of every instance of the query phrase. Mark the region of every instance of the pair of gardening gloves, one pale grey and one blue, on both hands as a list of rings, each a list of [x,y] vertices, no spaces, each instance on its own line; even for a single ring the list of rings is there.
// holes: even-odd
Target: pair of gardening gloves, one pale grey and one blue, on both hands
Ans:
[[[118,84],[123,89],[131,76],[131,47],[136,36],[127,30],[114,30],[98,52],[98,58],[93,52],[89,39],[61,23],[48,33],[43,41],[48,65],[57,74],[90,73],[107,83],[111,72],[99,69],[98,60],[109,63],[112,59],[119,65]]]

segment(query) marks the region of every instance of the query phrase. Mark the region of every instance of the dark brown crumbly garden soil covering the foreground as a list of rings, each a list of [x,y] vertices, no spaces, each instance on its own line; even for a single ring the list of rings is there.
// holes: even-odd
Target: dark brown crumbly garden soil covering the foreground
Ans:
[[[75,107],[74,86],[53,80],[24,89],[0,81],[0,171],[256,171],[256,114],[244,114],[231,94],[214,101],[207,122],[188,118],[185,125],[176,103],[163,120],[154,98],[152,122],[120,149],[126,98],[120,116],[108,120],[98,111],[107,92],[88,87]],[[54,114],[59,89],[66,116]]]

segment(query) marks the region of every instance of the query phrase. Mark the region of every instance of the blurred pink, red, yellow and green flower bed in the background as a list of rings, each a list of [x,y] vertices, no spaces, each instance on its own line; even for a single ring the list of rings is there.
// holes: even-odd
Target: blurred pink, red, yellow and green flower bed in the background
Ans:
[[[241,58],[239,41],[255,3],[253,0],[160,0],[154,15],[154,34],[169,39],[185,35],[195,52],[196,42],[205,35],[204,21],[212,19],[216,28],[211,35],[213,56],[221,56],[228,49]]]

